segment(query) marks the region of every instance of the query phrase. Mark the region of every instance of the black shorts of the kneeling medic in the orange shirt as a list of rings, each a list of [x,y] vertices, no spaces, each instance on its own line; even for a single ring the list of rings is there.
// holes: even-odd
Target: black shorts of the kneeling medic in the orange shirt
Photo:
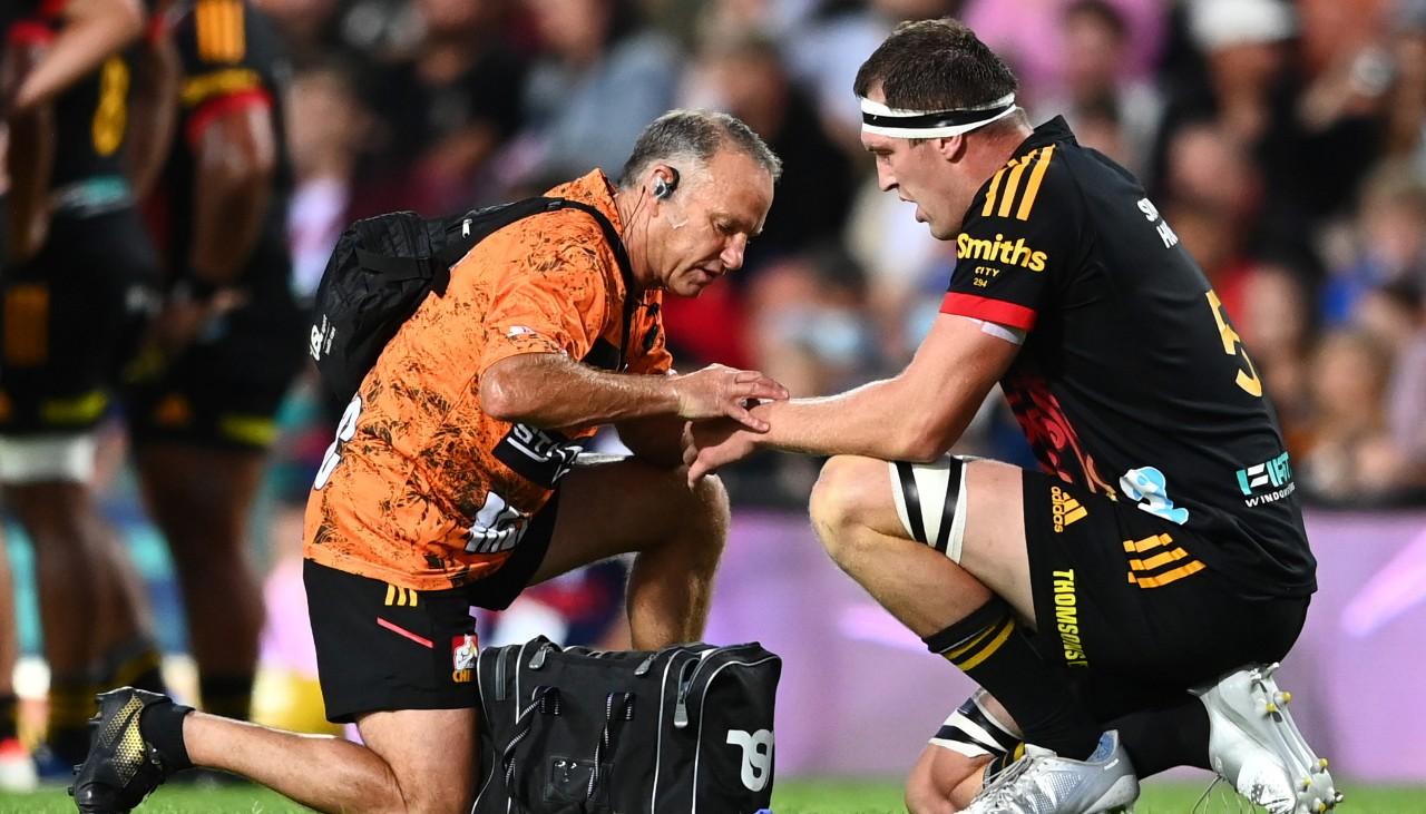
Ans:
[[[327,720],[352,723],[384,710],[462,710],[475,684],[475,607],[503,610],[545,560],[559,493],[530,519],[493,575],[462,587],[414,590],[302,563],[307,612]]]

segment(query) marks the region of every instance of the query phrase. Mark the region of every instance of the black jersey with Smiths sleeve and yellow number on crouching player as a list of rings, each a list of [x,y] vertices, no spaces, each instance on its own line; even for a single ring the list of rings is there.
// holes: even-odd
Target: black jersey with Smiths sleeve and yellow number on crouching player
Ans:
[[[1316,589],[1232,321],[1139,182],[1062,118],[973,198],[941,311],[1027,332],[1001,386],[1047,472],[1198,532],[1245,596]]]

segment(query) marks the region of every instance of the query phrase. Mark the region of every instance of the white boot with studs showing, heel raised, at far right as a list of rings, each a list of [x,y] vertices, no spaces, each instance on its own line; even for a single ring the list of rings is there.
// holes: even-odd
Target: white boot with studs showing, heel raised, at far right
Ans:
[[[1208,757],[1238,794],[1271,814],[1320,814],[1342,794],[1288,713],[1278,664],[1249,664],[1194,694],[1208,709]]]

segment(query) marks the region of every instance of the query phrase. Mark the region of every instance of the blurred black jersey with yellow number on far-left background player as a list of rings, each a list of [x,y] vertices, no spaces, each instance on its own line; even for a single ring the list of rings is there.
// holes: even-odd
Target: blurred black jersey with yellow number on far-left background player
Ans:
[[[48,43],[64,27],[66,0],[7,0],[7,44]],[[113,54],[64,88],[54,107],[50,191],[56,215],[90,215],[133,204],[124,174],[133,57]]]

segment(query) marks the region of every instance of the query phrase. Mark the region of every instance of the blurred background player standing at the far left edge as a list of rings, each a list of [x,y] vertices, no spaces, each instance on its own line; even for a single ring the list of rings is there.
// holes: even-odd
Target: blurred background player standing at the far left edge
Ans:
[[[88,747],[98,684],[163,686],[141,587],[91,490],[96,428],[155,302],[157,258],[130,180],[148,155],[124,151],[148,113],[131,108],[140,77],[125,50],[143,10],[19,0],[6,11],[0,482],[34,545],[50,667],[41,770],[67,776]]]

